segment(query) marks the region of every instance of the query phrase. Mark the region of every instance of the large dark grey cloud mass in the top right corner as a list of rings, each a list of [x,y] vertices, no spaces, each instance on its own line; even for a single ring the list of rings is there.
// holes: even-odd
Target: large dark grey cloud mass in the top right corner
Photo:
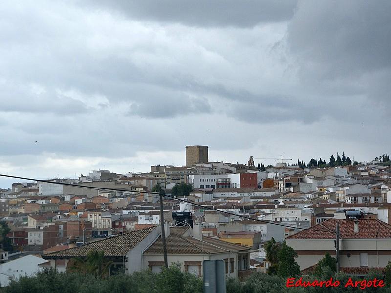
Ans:
[[[390,98],[390,1],[300,1],[287,41],[304,83]]]

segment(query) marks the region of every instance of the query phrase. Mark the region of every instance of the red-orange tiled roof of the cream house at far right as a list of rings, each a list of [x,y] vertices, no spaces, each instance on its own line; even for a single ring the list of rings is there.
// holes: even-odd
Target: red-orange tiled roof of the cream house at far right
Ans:
[[[303,230],[291,235],[286,239],[332,239],[335,234],[336,223],[339,222],[341,238],[346,239],[382,239],[391,238],[391,225],[377,219],[360,219],[358,222],[358,233],[354,233],[353,219],[327,219],[321,224],[312,226],[312,230]],[[328,228],[326,228],[326,227]]]

